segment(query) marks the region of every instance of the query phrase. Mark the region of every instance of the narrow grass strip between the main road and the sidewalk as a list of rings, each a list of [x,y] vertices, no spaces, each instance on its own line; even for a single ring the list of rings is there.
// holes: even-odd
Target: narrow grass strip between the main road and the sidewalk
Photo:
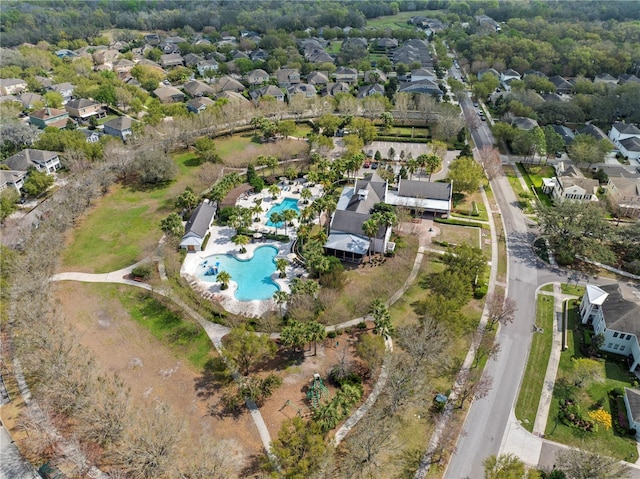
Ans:
[[[531,341],[527,368],[522,378],[522,385],[516,403],[516,417],[529,432],[538,413],[538,404],[547,372],[549,355],[553,341],[553,296],[539,295],[536,302],[536,326],[544,332],[535,333]]]

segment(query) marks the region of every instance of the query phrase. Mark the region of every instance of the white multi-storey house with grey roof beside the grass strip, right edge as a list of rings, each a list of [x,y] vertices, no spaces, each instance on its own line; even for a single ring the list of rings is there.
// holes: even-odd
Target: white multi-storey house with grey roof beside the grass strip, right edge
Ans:
[[[596,286],[587,284],[580,302],[582,324],[589,324],[595,334],[602,334],[600,349],[629,358],[630,371],[640,365],[640,305],[638,299],[621,284]]]

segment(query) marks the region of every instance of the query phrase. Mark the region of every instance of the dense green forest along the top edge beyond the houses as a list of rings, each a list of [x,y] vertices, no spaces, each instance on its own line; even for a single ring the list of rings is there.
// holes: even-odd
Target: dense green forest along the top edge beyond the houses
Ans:
[[[5,47],[45,40],[89,41],[108,28],[187,30],[212,37],[238,29],[264,33],[306,28],[363,28],[366,19],[399,11],[447,11],[450,22],[487,14],[497,21],[541,17],[550,22],[629,22],[640,19],[640,3],[628,1],[446,1],[363,0],[353,2],[290,0],[50,0],[5,1],[0,4],[0,33]],[[605,25],[603,29],[608,27]],[[565,29],[565,27],[562,27]]]

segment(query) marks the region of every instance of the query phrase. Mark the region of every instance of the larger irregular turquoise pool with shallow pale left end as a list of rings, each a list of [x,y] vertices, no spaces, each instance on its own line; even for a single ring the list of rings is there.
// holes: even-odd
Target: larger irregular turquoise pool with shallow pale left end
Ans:
[[[274,261],[278,249],[273,246],[261,246],[251,259],[240,260],[230,254],[207,256],[198,266],[196,275],[203,281],[216,282],[216,274],[207,275],[209,268],[227,271],[231,281],[238,283],[235,297],[238,301],[264,300],[273,297],[280,288],[271,279],[276,270]]]

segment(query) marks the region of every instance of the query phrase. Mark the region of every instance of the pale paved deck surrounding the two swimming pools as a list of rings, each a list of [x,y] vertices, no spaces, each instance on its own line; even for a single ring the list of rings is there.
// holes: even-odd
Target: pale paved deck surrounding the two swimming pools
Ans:
[[[280,196],[275,200],[266,190],[264,190],[262,193],[250,195],[239,200],[237,204],[238,206],[252,207],[255,204],[254,199],[261,198],[264,212],[260,215],[260,221],[256,221],[253,224],[253,227],[259,232],[274,233],[275,228],[266,225],[268,219],[265,217],[265,213],[274,204],[280,203],[284,198],[299,199],[299,190],[301,188],[301,184],[294,184],[293,186],[290,186],[288,190],[282,191]],[[313,199],[320,196],[321,192],[319,187],[313,187],[310,189],[313,193],[313,197],[310,201],[313,201]],[[294,220],[294,224],[297,224],[296,220]],[[196,291],[202,294],[205,298],[220,303],[222,307],[230,313],[247,317],[261,317],[270,311],[277,310],[278,305],[273,299],[238,301],[234,296],[238,285],[233,281],[233,278],[231,278],[231,281],[229,282],[229,288],[224,291],[220,289],[220,283],[202,281],[196,276],[196,272],[206,257],[215,254],[231,254],[238,259],[250,259],[257,248],[261,246],[273,246],[278,249],[278,254],[275,259],[285,258],[289,260],[289,266],[287,266],[286,269],[286,278],[279,278],[278,271],[275,271],[271,275],[271,279],[278,284],[280,290],[287,293],[291,292],[289,285],[293,278],[305,276],[307,274],[307,271],[304,268],[296,265],[292,261],[295,258],[295,255],[291,252],[291,246],[293,245],[296,237],[295,227],[287,229],[287,234],[291,238],[288,243],[281,243],[266,239],[252,239],[251,243],[246,245],[247,252],[243,254],[240,254],[239,247],[231,242],[231,238],[235,235],[235,229],[226,226],[212,226],[209,228],[209,232],[211,233],[211,237],[209,238],[205,249],[195,253],[187,253],[182,263],[182,267],[180,268],[180,274]],[[278,228],[278,232],[284,233],[284,228]]]

